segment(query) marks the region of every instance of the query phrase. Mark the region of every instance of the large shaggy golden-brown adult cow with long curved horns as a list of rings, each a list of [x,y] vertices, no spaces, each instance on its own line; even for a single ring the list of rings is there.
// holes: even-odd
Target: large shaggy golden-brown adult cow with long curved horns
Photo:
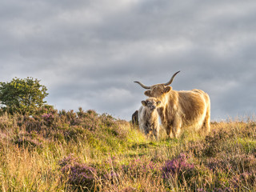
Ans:
[[[179,71],[170,78],[169,82],[154,86],[137,83],[144,89],[148,89],[144,93],[146,96],[158,98],[161,101],[158,114],[169,137],[177,138],[184,126],[202,130],[207,134],[210,132],[209,95],[202,90],[172,90],[169,85],[178,73]]]

